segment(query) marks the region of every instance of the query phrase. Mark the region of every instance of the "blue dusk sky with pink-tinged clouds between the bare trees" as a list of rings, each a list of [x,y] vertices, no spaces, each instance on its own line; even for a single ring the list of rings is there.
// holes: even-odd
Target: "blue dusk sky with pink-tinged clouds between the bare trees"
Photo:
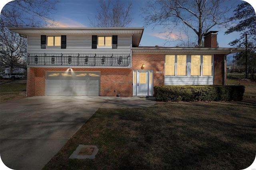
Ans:
[[[246,0],[254,9],[256,8],[255,0]],[[0,9],[6,4],[10,2],[10,0],[1,0]],[[140,8],[144,6],[146,0],[122,0],[126,6],[128,2],[132,2],[132,12],[134,13],[134,20],[129,27],[145,27],[144,21],[141,16]],[[228,4],[237,4],[242,3],[241,0],[232,0],[227,1]],[[98,0],[60,0],[60,2],[56,5],[57,11],[54,14],[54,19],[57,21],[57,27],[92,27],[90,25],[90,21],[88,18],[93,19],[97,13],[97,9],[100,9]],[[141,46],[176,46],[179,42],[170,42],[166,43],[166,33],[162,32],[164,28],[162,26],[156,26],[153,30],[153,26],[147,26],[144,29],[144,33],[142,36],[142,40],[140,42]],[[230,47],[228,45],[229,42],[239,38],[239,33],[232,33],[228,35],[224,35],[224,32],[227,28],[212,28],[211,30],[217,30],[218,32],[218,43],[219,47]],[[174,30],[174,34],[170,35],[170,37],[175,40],[175,34],[179,34],[179,30]],[[190,38],[193,38],[196,41],[196,34],[194,32],[190,32]],[[186,36],[184,35],[184,39]],[[165,44],[166,43],[166,44]]]

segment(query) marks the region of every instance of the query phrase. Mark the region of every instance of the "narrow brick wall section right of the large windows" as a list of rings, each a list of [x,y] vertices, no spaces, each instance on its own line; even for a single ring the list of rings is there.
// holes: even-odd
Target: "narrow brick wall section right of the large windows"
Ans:
[[[214,85],[224,85],[224,54],[214,55]]]

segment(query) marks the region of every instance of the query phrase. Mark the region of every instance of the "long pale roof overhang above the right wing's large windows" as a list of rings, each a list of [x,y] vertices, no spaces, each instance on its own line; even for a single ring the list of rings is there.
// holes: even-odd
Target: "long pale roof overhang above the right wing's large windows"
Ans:
[[[133,47],[132,53],[155,54],[224,54],[244,51],[245,48],[176,48],[176,47]]]

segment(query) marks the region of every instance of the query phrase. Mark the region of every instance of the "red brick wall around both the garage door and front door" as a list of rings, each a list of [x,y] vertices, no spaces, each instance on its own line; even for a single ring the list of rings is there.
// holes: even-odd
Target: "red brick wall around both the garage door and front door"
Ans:
[[[164,85],[164,54],[134,54],[132,68],[72,68],[73,71],[100,71],[100,95],[116,96],[120,93],[122,97],[132,97],[132,72],[135,69],[154,70],[154,86]],[[28,97],[45,95],[45,72],[66,71],[64,68],[28,67]],[[160,71],[161,73],[156,73]],[[114,90],[116,92],[114,92]]]

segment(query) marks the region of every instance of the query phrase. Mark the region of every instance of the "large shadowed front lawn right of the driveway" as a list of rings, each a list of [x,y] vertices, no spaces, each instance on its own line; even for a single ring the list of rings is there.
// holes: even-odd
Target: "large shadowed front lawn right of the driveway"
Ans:
[[[256,99],[99,109],[44,170],[244,169],[256,154]],[[79,144],[94,160],[68,159]]]

